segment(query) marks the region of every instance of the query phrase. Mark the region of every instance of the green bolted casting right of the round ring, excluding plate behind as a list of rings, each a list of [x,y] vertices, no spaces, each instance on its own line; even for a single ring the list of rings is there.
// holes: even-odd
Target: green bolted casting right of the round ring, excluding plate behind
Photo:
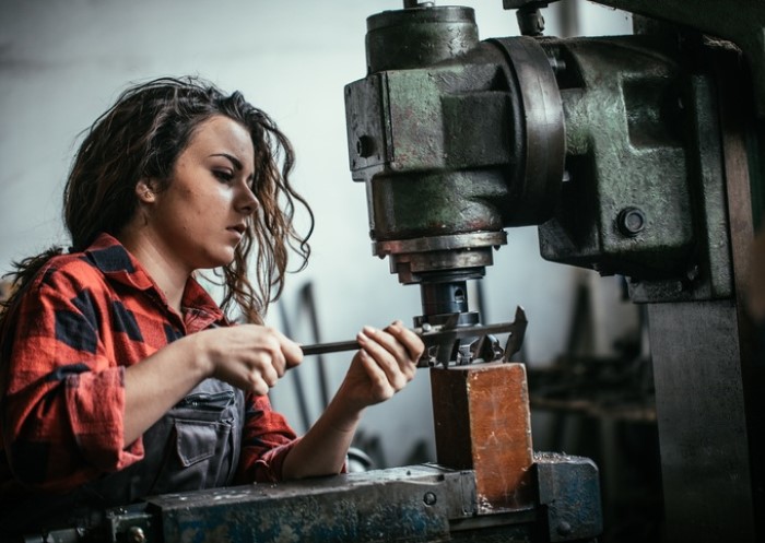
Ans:
[[[565,66],[568,181],[540,226],[542,256],[642,281],[684,276],[695,239],[682,67],[636,37],[544,46]]]

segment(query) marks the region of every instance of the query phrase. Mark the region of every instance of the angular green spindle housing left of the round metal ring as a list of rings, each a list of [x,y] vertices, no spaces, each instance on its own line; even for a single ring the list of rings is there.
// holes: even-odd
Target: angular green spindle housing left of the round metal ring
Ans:
[[[368,185],[374,239],[503,227],[513,109],[497,72],[481,61],[447,63],[346,87],[351,167]],[[363,141],[374,154],[363,156]]]

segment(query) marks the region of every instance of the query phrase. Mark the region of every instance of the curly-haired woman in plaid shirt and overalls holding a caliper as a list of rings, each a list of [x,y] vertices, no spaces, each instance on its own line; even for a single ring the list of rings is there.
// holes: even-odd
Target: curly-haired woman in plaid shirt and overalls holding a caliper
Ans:
[[[19,264],[0,328],[2,533],[342,470],[364,409],[412,379],[424,347],[401,322],[365,327],[305,436],[271,410],[266,394],[302,358],[262,326],[289,249],[309,253],[292,166],[267,115],[195,79],[134,86],[91,127],[64,190],[72,247]],[[208,269],[222,270],[220,307],[195,279]],[[248,323],[232,326],[234,309]]]

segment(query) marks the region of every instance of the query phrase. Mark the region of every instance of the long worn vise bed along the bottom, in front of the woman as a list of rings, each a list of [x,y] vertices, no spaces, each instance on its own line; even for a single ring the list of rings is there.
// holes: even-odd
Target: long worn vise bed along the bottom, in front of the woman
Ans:
[[[163,496],[165,542],[440,541],[474,512],[472,475],[427,467]]]

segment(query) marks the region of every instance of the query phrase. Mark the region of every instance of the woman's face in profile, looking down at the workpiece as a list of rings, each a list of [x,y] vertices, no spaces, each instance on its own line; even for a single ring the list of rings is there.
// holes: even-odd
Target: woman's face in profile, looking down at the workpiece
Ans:
[[[247,129],[224,116],[201,122],[155,194],[149,226],[168,263],[187,272],[232,262],[257,200]]]

